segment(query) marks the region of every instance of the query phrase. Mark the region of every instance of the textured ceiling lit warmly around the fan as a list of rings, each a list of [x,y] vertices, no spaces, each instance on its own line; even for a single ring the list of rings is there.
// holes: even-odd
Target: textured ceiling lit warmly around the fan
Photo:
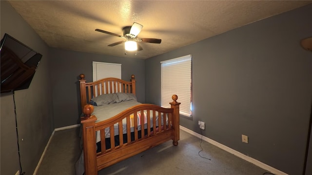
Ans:
[[[86,53],[149,58],[268,18],[312,1],[301,0],[53,0],[9,1],[48,46]],[[96,32],[123,35],[133,22],[143,25],[139,38],[159,38],[160,44],[142,43],[142,51],[128,52],[124,40]]]

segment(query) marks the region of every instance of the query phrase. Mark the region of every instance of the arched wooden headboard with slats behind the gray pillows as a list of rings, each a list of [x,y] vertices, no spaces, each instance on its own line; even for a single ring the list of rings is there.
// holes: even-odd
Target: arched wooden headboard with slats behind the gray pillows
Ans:
[[[92,98],[101,94],[117,92],[136,94],[135,75],[131,75],[129,82],[119,78],[103,78],[95,82],[86,83],[84,74],[80,74],[79,77],[81,108],[87,105]]]

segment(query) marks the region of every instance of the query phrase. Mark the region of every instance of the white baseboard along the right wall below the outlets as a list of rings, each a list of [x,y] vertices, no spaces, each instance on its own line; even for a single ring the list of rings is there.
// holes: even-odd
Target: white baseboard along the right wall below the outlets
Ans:
[[[271,167],[271,166],[269,166],[269,165],[267,165],[265,163],[262,163],[259,160],[256,160],[256,159],[254,159],[252,157],[248,157],[248,156],[246,156],[246,155],[244,155],[244,154],[242,154],[242,153],[240,153],[240,152],[238,152],[238,151],[236,151],[236,150],[234,150],[234,149],[232,149],[230,147],[227,147],[227,146],[225,146],[225,145],[223,145],[223,144],[221,144],[219,142],[216,142],[215,140],[209,139],[209,138],[207,138],[205,136],[201,136],[200,134],[198,134],[198,133],[196,133],[196,132],[194,132],[194,131],[192,131],[192,130],[184,127],[184,126],[180,125],[180,129],[185,131],[185,132],[187,132],[187,133],[192,134],[193,136],[196,136],[198,138],[202,138],[202,140],[205,140],[208,143],[211,143],[211,144],[213,144],[213,145],[215,145],[215,146],[217,146],[217,147],[219,147],[219,148],[221,148],[221,149],[223,149],[223,150],[225,150],[225,151],[227,151],[227,152],[229,152],[231,154],[234,154],[237,157],[240,157],[240,158],[242,158],[242,159],[244,159],[244,160],[246,160],[248,162],[251,162],[254,165],[256,165],[256,166],[258,166],[258,167],[260,167],[262,169],[268,170],[269,172],[271,172],[271,173],[273,173],[275,175],[287,175],[286,173],[284,173],[282,171],[279,171],[279,170],[277,170],[277,169],[275,169],[275,168],[273,168],[273,167]]]

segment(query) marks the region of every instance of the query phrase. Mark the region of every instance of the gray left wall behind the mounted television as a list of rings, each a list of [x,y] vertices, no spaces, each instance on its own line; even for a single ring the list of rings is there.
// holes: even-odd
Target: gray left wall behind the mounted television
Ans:
[[[48,47],[7,1],[0,1],[0,37],[7,33],[43,56],[28,89],[15,91],[22,171],[33,174],[53,132]],[[1,94],[1,175],[20,170],[13,94]],[[23,141],[21,140],[23,139]]]

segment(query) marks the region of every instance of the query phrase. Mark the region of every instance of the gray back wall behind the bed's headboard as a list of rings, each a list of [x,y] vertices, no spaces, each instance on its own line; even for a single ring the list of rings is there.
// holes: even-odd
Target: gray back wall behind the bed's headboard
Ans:
[[[87,82],[92,82],[92,61],[121,64],[121,79],[125,81],[129,81],[134,74],[137,80],[137,100],[145,102],[145,60],[53,48],[50,55],[55,128],[79,123],[79,75],[85,74]]]

